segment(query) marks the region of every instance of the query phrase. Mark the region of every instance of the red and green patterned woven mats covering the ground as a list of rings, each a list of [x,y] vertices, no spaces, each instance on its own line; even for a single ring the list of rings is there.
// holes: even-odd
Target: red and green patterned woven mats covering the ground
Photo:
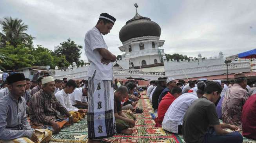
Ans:
[[[135,114],[137,120],[133,128],[134,133],[131,135],[116,134],[108,139],[114,143],[185,143],[182,136],[154,127],[153,118],[157,114],[154,113],[151,102],[146,95],[142,95],[137,107],[143,109],[144,113]],[[85,117],[81,122],[64,127],[58,134],[54,134],[50,143],[87,143],[87,140],[87,118]],[[243,143],[256,143],[256,141],[244,138]]]

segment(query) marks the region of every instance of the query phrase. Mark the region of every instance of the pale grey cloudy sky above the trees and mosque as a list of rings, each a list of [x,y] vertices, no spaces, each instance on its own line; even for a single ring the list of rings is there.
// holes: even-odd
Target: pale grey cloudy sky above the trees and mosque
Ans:
[[[256,48],[255,0],[0,0],[0,20],[22,19],[36,37],[34,45],[53,50],[67,38],[84,47],[87,30],[100,13],[109,13],[117,20],[104,39],[119,55],[118,33],[135,15],[134,3],[140,15],[160,25],[166,54],[229,56]]]

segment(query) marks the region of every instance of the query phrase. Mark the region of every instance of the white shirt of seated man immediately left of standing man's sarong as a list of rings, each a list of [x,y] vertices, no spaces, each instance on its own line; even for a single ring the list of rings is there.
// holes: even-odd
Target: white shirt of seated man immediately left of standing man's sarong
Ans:
[[[70,102],[76,105],[76,101],[87,102],[86,97],[83,97],[83,88],[74,89],[73,93],[69,94]]]

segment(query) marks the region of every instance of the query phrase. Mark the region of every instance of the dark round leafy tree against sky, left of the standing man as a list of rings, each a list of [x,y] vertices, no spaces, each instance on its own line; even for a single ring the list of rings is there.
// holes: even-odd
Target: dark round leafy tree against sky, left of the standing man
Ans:
[[[72,65],[73,62],[76,63],[76,65],[81,66],[84,63],[84,61],[80,60],[80,55],[82,52],[81,49],[83,47],[80,45],[76,45],[74,41],[71,41],[71,39],[67,39],[67,41],[64,41],[60,43],[60,45],[56,46],[54,49],[54,53],[58,56],[65,55],[65,59],[69,62],[69,64]]]

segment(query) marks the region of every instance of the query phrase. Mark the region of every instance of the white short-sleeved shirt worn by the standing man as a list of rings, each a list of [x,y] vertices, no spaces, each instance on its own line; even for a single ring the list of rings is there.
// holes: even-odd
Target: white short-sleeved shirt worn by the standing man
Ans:
[[[97,48],[107,49],[107,44],[105,43],[102,34],[96,27],[93,27],[85,34],[84,43],[85,55],[88,58],[88,61],[90,62],[87,76],[93,77],[93,74],[96,71],[94,79],[113,80],[112,63],[109,63],[107,65],[102,64],[100,62],[102,56],[100,55],[98,50],[96,50]]]

